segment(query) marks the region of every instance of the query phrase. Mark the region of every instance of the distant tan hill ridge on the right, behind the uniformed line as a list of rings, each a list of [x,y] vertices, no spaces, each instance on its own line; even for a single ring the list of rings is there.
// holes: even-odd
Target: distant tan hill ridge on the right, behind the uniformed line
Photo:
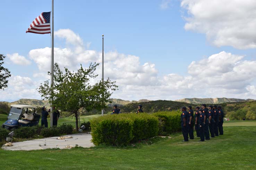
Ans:
[[[221,103],[237,103],[237,102],[252,102],[256,101],[253,99],[239,99],[239,98],[183,98],[180,100],[175,100],[177,102],[185,102],[185,103],[191,103],[191,104],[202,104],[202,103],[208,103],[208,104],[221,104]]]

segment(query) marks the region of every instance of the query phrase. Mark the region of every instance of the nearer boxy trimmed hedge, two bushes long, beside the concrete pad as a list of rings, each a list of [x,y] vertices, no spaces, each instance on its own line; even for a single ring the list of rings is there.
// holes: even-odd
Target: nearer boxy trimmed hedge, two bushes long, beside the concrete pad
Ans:
[[[95,145],[127,145],[158,133],[158,119],[148,114],[106,115],[91,121]]]

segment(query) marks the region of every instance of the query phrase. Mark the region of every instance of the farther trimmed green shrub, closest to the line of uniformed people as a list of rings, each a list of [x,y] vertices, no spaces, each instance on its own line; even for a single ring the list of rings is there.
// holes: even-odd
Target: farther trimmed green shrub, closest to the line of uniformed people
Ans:
[[[159,120],[159,135],[168,135],[180,131],[180,111],[156,112],[154,116]]]

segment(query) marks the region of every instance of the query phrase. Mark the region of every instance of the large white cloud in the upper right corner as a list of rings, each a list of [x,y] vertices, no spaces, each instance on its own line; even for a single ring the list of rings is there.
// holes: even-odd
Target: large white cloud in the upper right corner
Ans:
[[[182,0],[186,30],[206,34],[215,46],[256,48],[255,0]]]

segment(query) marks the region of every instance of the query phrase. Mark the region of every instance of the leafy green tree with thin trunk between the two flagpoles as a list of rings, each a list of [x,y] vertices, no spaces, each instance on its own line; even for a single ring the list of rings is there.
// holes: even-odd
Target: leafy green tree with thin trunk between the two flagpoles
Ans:
[[[104,83],[101,81],[91,83],[91,80],[98,76],[94,74],[98,65],[91,63],[87,69],[81,65],[77,72],[70,72],[68,68],[65,68],[65,73],[63,73],[56,63],[53,90],[49,85],[49,80],[37,88],[43,99],[50,100],[53,97],[52,106],[75,114],[77,131],[79,108],[84,107],[87,111],[105,108],[113,91],[118,88],[116,82],[110,81],[109,78]]]

